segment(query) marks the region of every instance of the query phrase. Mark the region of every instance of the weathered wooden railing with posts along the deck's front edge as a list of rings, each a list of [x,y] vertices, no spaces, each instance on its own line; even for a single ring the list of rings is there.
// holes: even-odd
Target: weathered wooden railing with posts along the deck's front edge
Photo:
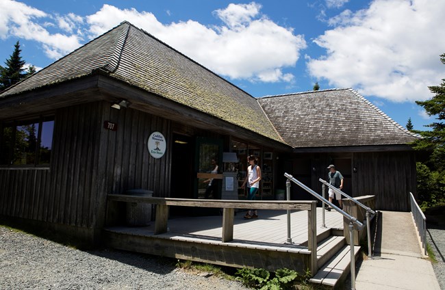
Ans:
[[[235,209],[278,209],[307,211],[307,250],[311,252],[309,269],[316,273],[317,265],[317,211],[315,200],[266,201],[266,200],[203,200],[186,198],[156,198],[146,196],[131,196],[123,194],[108,194],[109,201],[142,202],[156,205],[155,235],[167,232],[168,207],[214,207],[223,209],[223,233],[221,241],[227,243],[233,240],[233,216]]]

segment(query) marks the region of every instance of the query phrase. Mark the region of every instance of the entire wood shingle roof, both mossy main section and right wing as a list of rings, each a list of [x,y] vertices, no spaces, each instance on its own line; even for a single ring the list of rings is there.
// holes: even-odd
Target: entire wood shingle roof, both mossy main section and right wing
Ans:
[[[398,145],[418,138],[351,89],[254,98],[127,22],[1,92],[0,101],[98,70],[293,148]]]

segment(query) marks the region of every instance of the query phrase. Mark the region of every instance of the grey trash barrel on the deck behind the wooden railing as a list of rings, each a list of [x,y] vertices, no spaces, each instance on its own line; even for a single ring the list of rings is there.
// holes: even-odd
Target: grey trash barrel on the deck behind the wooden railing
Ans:
[[[153,192],[147,189],[129,189],[125,194],[131,196],[152,197]],[[128,226],[148,226],[151,222],[152,205],[142,202],[127,202],[126,222]]]

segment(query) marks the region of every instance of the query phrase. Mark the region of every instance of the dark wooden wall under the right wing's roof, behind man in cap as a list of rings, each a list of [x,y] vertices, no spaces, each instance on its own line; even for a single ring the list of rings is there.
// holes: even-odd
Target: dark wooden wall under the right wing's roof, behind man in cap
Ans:
[[[346,194],[353,197],[374,195],[376,209],[409,211],[408,194],[416,194],[414,152],[298,153],[293,155],[292,172],[288,173],[322,194],[318,179],[327,179],[327,166],[332,163],[345,178],[343,191]],[[354,167],[357,172],[353,172]],[[314,198],[292,184],[292,199]]]

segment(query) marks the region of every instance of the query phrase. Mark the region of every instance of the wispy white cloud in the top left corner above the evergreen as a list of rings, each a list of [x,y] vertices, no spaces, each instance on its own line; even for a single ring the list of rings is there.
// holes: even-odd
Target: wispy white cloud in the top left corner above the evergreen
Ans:
[[[45,27],[51,27],[48,21],[38,24],[38,19],[51,16],[36,8],[20,2],[0,0],[0,38],[15,36],[26,40],[35,40],[42,44],[44,52],[57,59],[80,46],[79,36],[51,34]],[[67,19],[75,21],[76,16]]]

